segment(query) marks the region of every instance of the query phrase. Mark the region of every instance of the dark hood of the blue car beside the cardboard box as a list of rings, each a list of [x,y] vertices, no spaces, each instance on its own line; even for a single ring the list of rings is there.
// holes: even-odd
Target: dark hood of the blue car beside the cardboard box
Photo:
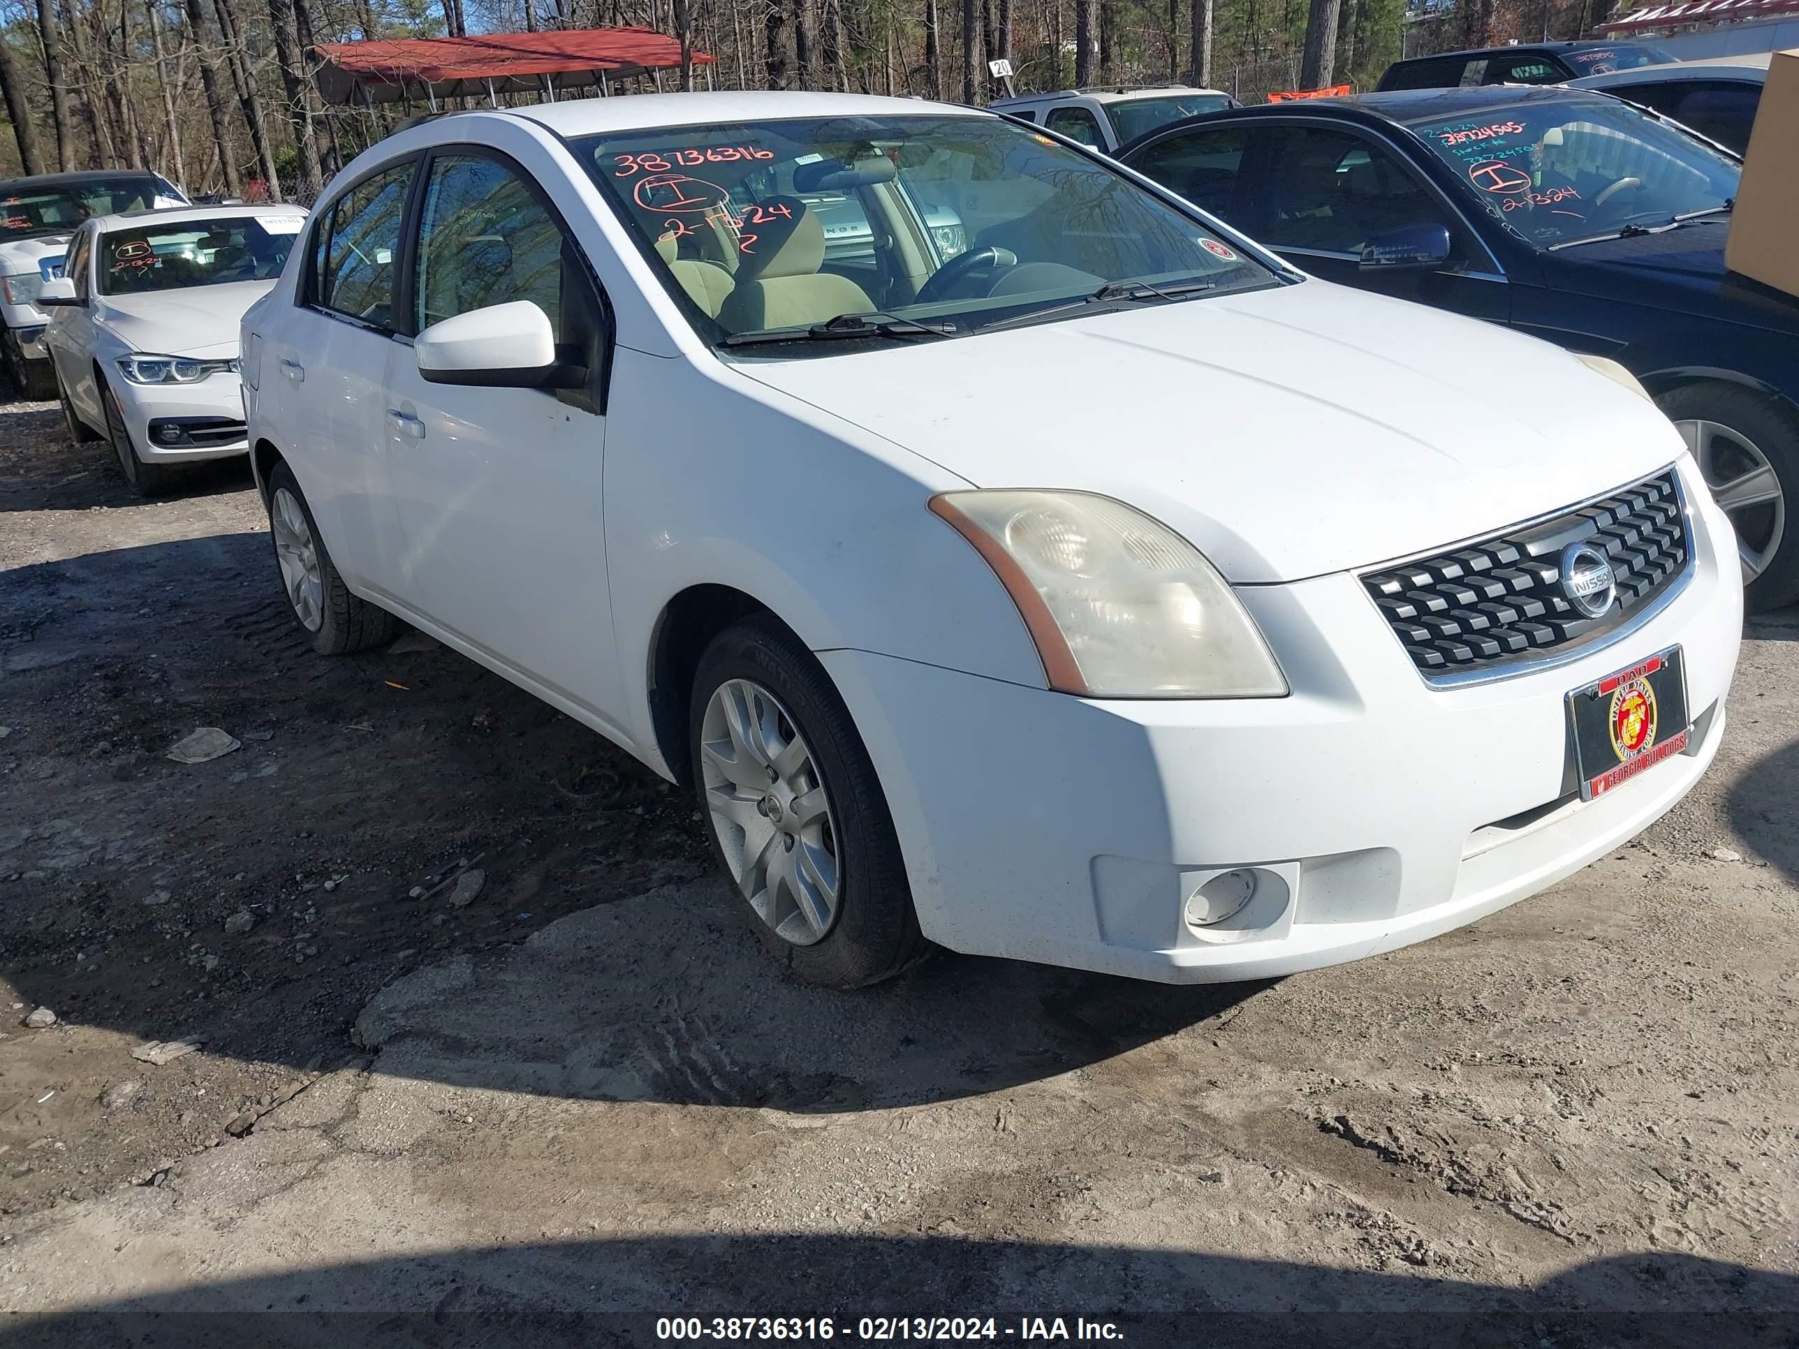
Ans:
[[[1729,216],[1544,254],[1551,290],[1799,333],[1799,299],[1723,264]]]

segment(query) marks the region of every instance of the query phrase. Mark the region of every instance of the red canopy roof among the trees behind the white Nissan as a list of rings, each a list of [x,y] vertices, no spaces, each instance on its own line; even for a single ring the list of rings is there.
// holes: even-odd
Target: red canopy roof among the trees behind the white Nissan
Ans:
[[[581,88],[601,77],[640,76],[680,68],[680,41],[655,29],[558,29],[554,32],[493,32],[482,38],[401,38],[396,41],[329,41],[315,49],[324,59],[318,88],[336,103],[369,97],[461,97]],[[694,65],[712,65],[709,52],[693,52]],[[428,94],[426,94],[428,92]]]

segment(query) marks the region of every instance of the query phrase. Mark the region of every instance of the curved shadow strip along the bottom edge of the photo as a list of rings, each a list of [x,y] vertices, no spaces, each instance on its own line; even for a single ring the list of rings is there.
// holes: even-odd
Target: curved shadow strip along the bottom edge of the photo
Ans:
[[[1061,1317],[1065,1340],[1078,1338],[1081,1318],[1114,1322],[1132,1345],[1765,1349],[1799,1336],[1799,1281],[1671,1254],[1590,1261],[1538,1288],[1509,1288],[1191,1250],[671,1236],[225,1281],[23,1317],[0,1331],[0,1345],[651,1345],[669,1342],[658,1335],[666,1317],[698,1317],[702,1329],[712,1317],[829,1317],[835,1342],[873,1344],[919,1338],[910,1324],[903,1335],[891,1324],[914,1315],[971,1318],[979,1344],[1029,1342],[1029,1318],[1049,1329]],[[864,1317],[874,1318],[865,1329],[885,1333],[864,1336]],[[991,1338],[979,1335],[988,1317]]]

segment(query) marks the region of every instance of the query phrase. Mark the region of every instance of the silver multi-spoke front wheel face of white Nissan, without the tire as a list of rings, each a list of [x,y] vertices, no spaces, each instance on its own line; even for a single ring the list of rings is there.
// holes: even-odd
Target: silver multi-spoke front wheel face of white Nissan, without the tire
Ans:
[[[842,894],[831,799],[793,716],[752,680],[712,691],[700,721],[712,831],[743,898],[795,946],[824,941]]]

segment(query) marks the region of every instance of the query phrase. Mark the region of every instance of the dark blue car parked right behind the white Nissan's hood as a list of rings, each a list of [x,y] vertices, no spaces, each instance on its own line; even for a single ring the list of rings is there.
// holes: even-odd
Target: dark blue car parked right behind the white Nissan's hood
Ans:
[[[1603,94],[1493,86],[1209,113],[1117,156],[1313,275],[1614,358],[1736,525],[1749,604],[1799,599],[1799,299],[1723,264],[1729,151]],[[1495,417],[1531,398],[1468,385]]]

